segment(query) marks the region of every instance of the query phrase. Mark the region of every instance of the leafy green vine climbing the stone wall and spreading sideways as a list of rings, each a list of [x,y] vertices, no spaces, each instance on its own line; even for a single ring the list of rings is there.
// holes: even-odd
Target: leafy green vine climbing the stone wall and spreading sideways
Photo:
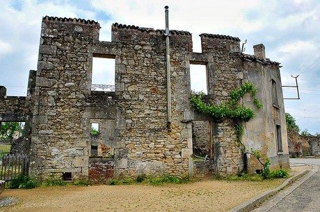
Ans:
[[[270,170],[270,160],[267,158],[263,164],[260,161],[261,155],[257,150],[251,149],[251,152],[246,152],[246,146],[241,142],[241,138],[244,133],[243,122],[249,121],[255,117],[255,112],[252,108],[246,107],[244,105],[239,105],[239,100],[245,94],[250,93],[253,96],[253,104],[258,108],[262,108],[262,103],[255,97],[257,94],[257,89],[253,83],[244,83],[241,88],[235,89],[230,92],[230,100],[227,103],[222,103],[221,105],[214,105],[213,103],[205,103],[202,101],[202,97],[205,95],[203,92],[198,94],[193,94],[191,96],[191,104],[198,112],[209,114],[216,119],[222,118],[232,118],[234,121],[234,131],[237,134],[237,142],[239,143],[239,148],[242,152],[253,154],[258,161],[264,166],[264,174],[269,175]]]

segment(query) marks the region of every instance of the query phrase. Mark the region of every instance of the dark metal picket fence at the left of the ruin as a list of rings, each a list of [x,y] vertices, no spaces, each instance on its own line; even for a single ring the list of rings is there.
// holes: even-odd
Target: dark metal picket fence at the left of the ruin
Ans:
[[[29,171],[29,156],[21,155],[6,155],[0,157],[1,173],[0,179],[10,182],[19,175],[28,174]]]

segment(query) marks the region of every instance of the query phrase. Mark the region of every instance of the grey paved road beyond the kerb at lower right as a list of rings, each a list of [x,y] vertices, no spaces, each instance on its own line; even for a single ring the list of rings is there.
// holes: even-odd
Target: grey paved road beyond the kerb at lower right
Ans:
[[[309,164],[316,168],[254,211],[320,211],[320,159],[290,159],[290,163]]]

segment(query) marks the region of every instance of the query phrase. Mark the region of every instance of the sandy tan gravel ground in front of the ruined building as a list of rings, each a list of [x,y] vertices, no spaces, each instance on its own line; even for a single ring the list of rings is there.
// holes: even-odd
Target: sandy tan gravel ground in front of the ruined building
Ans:
[[[303,170],[293,168],[294,173]],[[291,173],[291,174],[294,174]],[[0,200],[16,197],[0,211],[228,211],[285,179],[263,182],[203,180],[162,186],[64,186],[6,189]]]

